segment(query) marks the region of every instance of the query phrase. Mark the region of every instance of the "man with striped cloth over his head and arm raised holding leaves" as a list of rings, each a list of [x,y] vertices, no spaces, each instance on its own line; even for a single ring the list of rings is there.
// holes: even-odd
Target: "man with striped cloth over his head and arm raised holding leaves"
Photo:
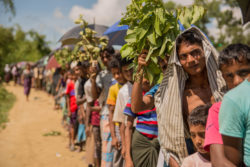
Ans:
[[[198,28],[182,33],[175,48],[155,97],[160,143],[165,149],[165,157],[171,155],[170,161],[165,159],[170,166],[181,164],[182,159],[191,153],[188,152],[191,149],[187,149],[190,148],[189,134],[184,135],[190,111],[198,105],[221,100],[219,88],[224,86],[223,79],[216,74],[217,52]],[[143,54],[138,63],[140,67],[147,65]],[[142,77],[141,71],[136,75]],[[138,81],[135,81],[132,91],[133,111],[149,109],[154,104],[152,97],[139,97],[141,83]],[[184,138],[186,142],[182,142]]]

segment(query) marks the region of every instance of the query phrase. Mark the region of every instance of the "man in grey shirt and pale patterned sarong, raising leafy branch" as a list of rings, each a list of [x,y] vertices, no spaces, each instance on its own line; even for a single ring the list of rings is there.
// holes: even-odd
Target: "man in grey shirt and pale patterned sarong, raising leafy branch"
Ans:
[[[109,93],[109,87],[114,84],[112,79],[112,73],[108,69],[108,62],[111,61],[114,54],[113,47],[107,47],[101,52],[101,60],[105,70],[102,70],[98,75],[95,72],[96,68],[91,67],[93,73],[90,76],[91,80],[91,93],[93,99],[97,99],[102,108],[100,112],[100,129],[101,129],[101,138],[102,138],[102,161],[101,166],[112,166],[113,160],[113,150],[111,146],[111,133],[109,125],[109,110],[106,104],[106,100]]]

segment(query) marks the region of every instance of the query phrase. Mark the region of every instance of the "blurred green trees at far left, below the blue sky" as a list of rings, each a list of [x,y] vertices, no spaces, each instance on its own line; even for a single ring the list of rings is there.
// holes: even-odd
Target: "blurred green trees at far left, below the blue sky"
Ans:
[[[24,32],[20,26],[0,26],[0,75],[5,64],[20,61],[37,61],[50,53],[45,36],[31,30]]]

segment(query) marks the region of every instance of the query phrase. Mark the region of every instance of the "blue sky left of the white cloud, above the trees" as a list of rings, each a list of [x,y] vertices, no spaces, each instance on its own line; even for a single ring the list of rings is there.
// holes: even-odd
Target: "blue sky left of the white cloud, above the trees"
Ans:
[[[91,8],[97,0],[14,0],[16,16],[4,13],[1,9],[0,24],[6,27],[21,25],[24,31],[34,29],[46,35],[50,46],[54,49],[61,35],[74,26],[69,17],[72,6]]]

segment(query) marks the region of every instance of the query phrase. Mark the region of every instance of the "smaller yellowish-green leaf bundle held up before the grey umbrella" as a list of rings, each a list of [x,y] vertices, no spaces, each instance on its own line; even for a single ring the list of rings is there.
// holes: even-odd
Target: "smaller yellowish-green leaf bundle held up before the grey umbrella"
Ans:
[[[104,49],[108,44],[108,39],[105,37],[97,37],[97,32],[88,28],[88,23],[80,15],[75,21],[80,24],[82,31],[80,32],[81,40],[76,44],[74,56],[76,59],[96,61],[100,56],[101,49]],[[81,50],[83,48],[84,52]]]

